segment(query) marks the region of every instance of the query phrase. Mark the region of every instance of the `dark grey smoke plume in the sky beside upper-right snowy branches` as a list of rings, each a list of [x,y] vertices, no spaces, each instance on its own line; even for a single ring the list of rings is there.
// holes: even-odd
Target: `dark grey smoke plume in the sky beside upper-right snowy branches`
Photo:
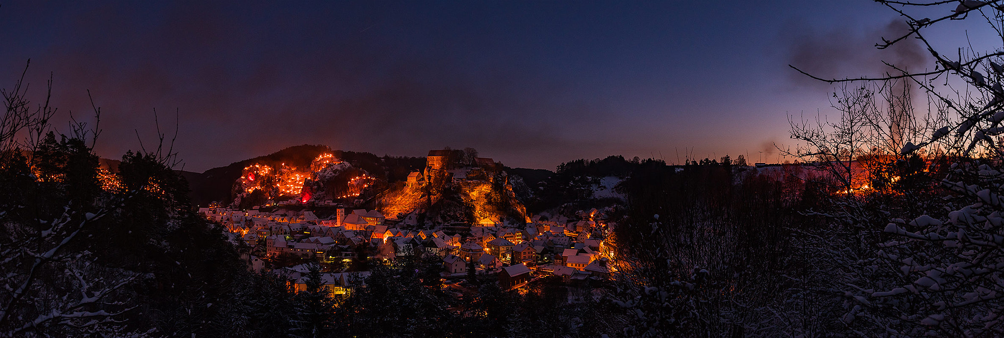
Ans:
[[[902,19],[893,19],[878,27],[870,27],[860,33],[844,27],[827,32],[816,31],[811,25],[789,23],[782,34],[790,48],[787,63],[821,78],[876,77],[898,71],[883,62],[912,72],[924,70],[931,65],[931,57],[926,48],[916,39],[908,38],[890,48],[875,47],[882,38],[893,40],[907,33],[909,26]],[[797,87],[809,89],[824,88],[830,84],[809,78],[794,70],[789,70],[789,79]]]

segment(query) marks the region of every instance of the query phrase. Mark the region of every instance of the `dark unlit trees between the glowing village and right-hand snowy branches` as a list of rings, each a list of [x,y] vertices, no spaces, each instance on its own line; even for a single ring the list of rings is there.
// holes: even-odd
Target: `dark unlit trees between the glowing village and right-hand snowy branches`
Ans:
[[[628,210],[616,228],[622,268],[616,292],[629,328],[653,336],[742,336],[786,286],[790,230],[811,186],[798,168],[658,161],[620,186]],[[787,180],[785,180],[787,179]],[[809,188],[807,188],[809,187]]]

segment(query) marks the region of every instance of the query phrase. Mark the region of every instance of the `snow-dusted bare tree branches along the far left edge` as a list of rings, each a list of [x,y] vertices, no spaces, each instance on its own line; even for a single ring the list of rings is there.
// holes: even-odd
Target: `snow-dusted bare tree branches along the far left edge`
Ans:
[[[51,131],[55,109],[48,101],[51,78],[45,102],[31,107],[26,97],[26,72],[27,68],[11,90],[2,91],[5,110],[0,117],[0,167],[11,180],[38,186],[43,183],[34,177],[31,165],[43,135]],[[94,110],[98,114],[96,107]],[[83,122],[73,120],[70,126],[70,138],[98,134],[96,128]],[[91,147],[80,150],[89,154]],[[116,317],[132,307],[116,296],[137,274],[94,264],[89,252],[79,250],[81,233],[126,199],[129,196],[108,196],[90,206],[69,203],[56,214],[38,211],[37,205],[27,206],[37,203],[29,196],[7,199],[0,205],[0,336],[129,335],[114,324]]]

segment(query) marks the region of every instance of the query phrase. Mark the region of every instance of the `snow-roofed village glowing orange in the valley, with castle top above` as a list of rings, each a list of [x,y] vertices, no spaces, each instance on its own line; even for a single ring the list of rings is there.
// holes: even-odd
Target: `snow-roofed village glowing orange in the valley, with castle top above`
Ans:
[[[430,151],[425,171],[409,175],[408,189],[427,185],[432,181],[427,178],[443,176],[452,182],[467,177],[465,171],[447,171],[442,151]],[[494,164],[483,157],[474,162]],[[616,225],[606,222],[606,212],[579,211],[575,219],[535,215],[521,223],[485,218],[476,224],[436,224],[419,222],[416,212],[388,218],[331,200],[269,201],[251,210],[199,209],[226,229],[252,272],[274,274],[302,291],[308,267],[318,264],[324,287],[341,297],[365,285],[368,267],[423,258],[442,265],[441,282],[458,295],[470,291],[469,282],[475,280],[496,283],[502,290],[547,277],[555,277],[550,283],[579,289],[596,286],[615,271],[616,249],[609,239]]]

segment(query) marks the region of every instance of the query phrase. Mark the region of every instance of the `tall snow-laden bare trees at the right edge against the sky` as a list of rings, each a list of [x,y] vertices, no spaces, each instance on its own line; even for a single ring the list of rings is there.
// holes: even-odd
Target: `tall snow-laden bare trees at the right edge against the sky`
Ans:
[[[1000,197],[1004,193],[1004,150],[999,135],[1004,133],[1000,125],[1004,120],[1004,1],[876,2],[901,15],[910,27],[901,36],[884,37],[876,48],[911,39],[920,41],[935,59],[933,69],[911,72],[887,62],[890,71],[883,76],[844,79],[824,79],[795,69],[829,83],[866,86],[907,81],[928,96],[928,118],[924,123],[912,124],[910,118],[904,117],[912,113],[911,101],[886,96],[890,113],[866,114],[871,117],[862,118],[863,124],[856,123],[857,119],[850,119],[852,123],[841,120],[846,123],[838,123],[841,128],[820,131],[793,123],[793,136],[807,144],[806,151],[794,152],[821,155],[824,160],[860,159],[860,155],[854,156],[855,151],[860,151],[857,153],[861,155],[897,160],[921,157],[927,163],[946,158],[951,162],[924,174],[932,185],[937,185],[934,188],[941,189],[927,202],[925,210],[908,212],[890,208],[888,202],[895,199],[847,194],[852,197],[840,199],[855,203],[844,204],[846,208],[826,216],[834,221],[831,224],[868,229],[867,235],[848,241],[831,229],[820,229],[805,234],[809,243],[814,242],[807,247],[822,253],[820,257],[826,262],[819,263],[828,265],[826,278],[832,281],[828,291],[843,299],[840,321],[851,332],[865,336],[1002,335],[1004,203]],[[922,16],[932,13],[938,16]],[[1001,47],[980,51],[965,43],[951,52],[943,51],[940,46],[952,41],[932,43],[929,33],[951,20],[985,22],[987,29],[1000,37]],[[964,41],[961,37],[959,40]],[[873,111],[875,107],[849,106],[860,107],[860,111]],[[852,127],[858,125],[865,126]],[[845,136],[847,130],[861,131],[858,137],[871,139],[869,145],[888,145],[872,147],[868,153],[868,149],[856,146],[852,138]],[[842,145],[844,152],[828,146],[831,143]],[[880,162],[875,168],[896,162]],[[848,191],[853,189],[851,180],[840,180]],[[876,224],[886,224],[882,233],[871,228]]]

